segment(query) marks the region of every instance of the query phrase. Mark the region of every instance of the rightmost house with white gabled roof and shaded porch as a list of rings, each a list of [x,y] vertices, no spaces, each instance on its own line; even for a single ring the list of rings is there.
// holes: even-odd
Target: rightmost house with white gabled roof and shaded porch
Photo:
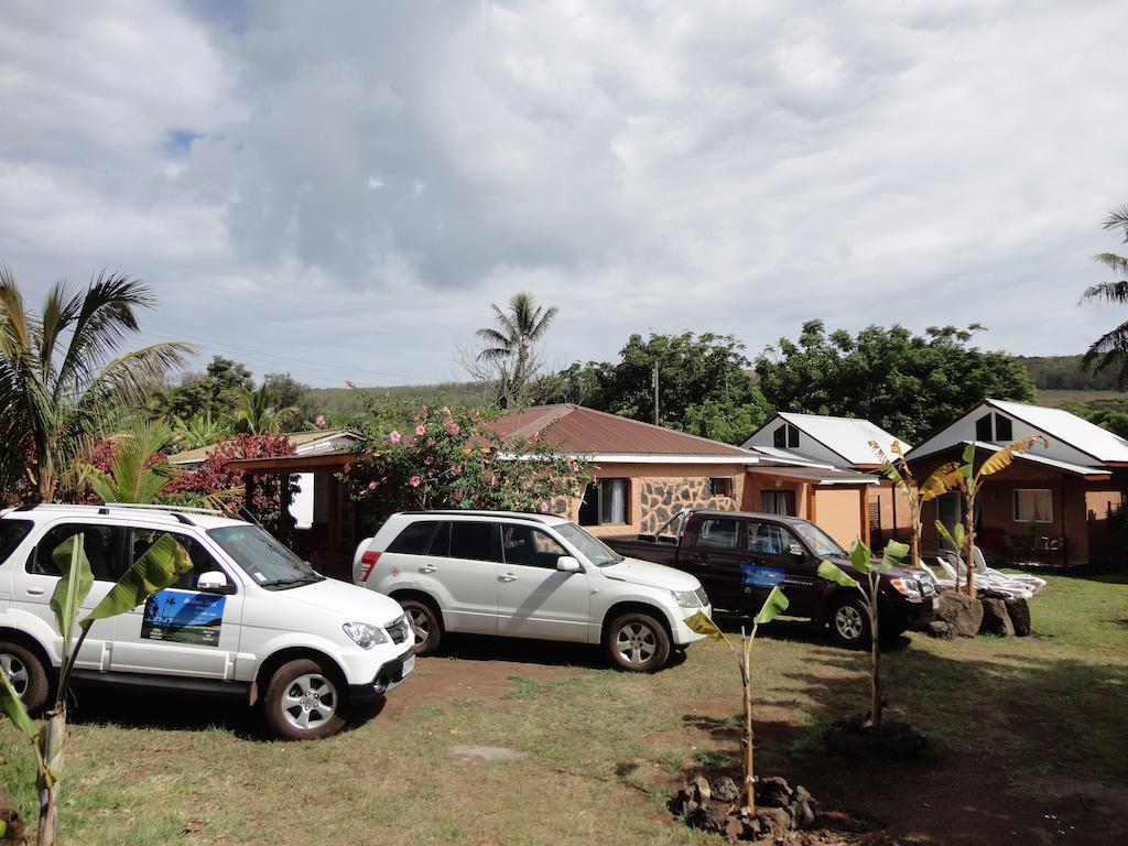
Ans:
[[[985,477],[976,499],[978,544],[995,561],[1048,564],[1105,563],[1117,541],[1112,528],[1123,508],[1128,440],[1060,408],[985,399],[931,434],[908,453],[917,478],[945,461],[961,460],[976,446],[976,470],[1020,438],[1040,435],[1047,446],[1020,453],[1011,466]],[[925,503],[924,545],[938,546],[938,519],[952,527],[963,513],[958,492]]]

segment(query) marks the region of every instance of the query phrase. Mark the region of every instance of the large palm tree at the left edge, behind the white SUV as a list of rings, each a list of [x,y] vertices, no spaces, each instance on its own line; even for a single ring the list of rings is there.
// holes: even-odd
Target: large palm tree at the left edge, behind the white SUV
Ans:
[[[150,386],[193,349],[152,344],[121,352],[139,331],[135,310],[156,305],[144,283],[99,273],[86,290],[60,280],[34,315],[0,266],[0,484],[19,476],[51,502],[85,438],[106,415],[144,404]]]

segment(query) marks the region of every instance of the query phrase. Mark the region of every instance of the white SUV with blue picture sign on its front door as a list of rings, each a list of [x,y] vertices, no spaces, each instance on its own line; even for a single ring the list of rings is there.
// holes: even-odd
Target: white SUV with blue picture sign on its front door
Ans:
[[[95,579],[83,610],[165,534],[193,566],[143,606],[96,622],[77,682],[262,699],[271,729],[301,739],[338,731],[350,707],[412,671],[395,600],[319,575],[256,526],[192,509],[36,505],[0,512],[0,669],[32,710],[46,702],[62,646],[51,554],[79,532]]]

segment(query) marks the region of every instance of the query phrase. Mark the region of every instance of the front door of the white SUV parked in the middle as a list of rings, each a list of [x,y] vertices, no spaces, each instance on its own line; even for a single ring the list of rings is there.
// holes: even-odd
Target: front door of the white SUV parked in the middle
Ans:
[[[532,526],[502,526],[504,562],[497,575],[497,634],[587,643],[591,587],[587,573],[562,573],[569,552]]]

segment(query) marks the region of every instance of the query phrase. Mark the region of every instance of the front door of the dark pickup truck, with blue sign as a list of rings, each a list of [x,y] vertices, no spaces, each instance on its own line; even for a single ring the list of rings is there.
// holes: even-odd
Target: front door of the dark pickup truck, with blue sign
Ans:
[[[748,564],[743,569],[743,589],[755,597],[757,609],[772,588],[787,598],[787,614],[817,617],[821,613],[823,582],[818,576],[819,562],[788,528],[768,520],[750,520]]]

